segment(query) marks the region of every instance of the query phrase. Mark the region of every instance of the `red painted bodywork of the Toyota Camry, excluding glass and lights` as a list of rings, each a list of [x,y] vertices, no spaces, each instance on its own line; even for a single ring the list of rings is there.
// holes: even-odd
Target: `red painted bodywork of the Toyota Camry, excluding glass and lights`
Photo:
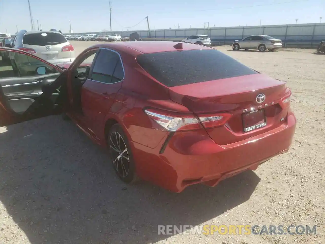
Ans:
[[[289,150],[296,118],[290,102],[283,101],[291,95],[285,82],[256,74],[168,88],[141,68],[136,56],[177,52],[175,44],[120,42],[87,48],[72,65],[63,65],[68,69],[70,105],[73,104],[71,70],[96,48],[110,48],[121,55],[124,79],[115,84],[86,80],[81,90],[85,116],[73,111],[68,115],[94,142],[104,147],[107,130],[119,123],[129,140],[137,175],[174,192],[195,183],[215,186],[244,170],[255,170],[266,160]],[[183,43],[182,47],[182,50],[211,49],[189,43]],[[254,101],[260,92],[266,95],[266,100],[258,104]],[[241,116],[252,106],[265,109],[267,125],[244,133]],[[200,124],[199,129],[171,133],[150,118],[145,108],[184,116],[223,113],[229,116],[226,123],[214,128]]]

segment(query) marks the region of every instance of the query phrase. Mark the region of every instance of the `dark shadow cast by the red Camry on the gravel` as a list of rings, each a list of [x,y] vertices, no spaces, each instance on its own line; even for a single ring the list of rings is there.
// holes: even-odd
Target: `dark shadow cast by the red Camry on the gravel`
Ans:
[[[0,200],[32,244],[155,243],[170,237],[158,235],[158,225],[206,222],[248,200],[259,181],[246,171],[180,194],[130,186],[105,150],[60,116],[0,133]]]

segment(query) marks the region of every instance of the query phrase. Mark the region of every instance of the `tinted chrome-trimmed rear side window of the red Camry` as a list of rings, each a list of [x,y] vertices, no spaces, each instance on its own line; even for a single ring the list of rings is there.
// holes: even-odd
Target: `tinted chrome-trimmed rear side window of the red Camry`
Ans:
[[[123,77],[120,56],[111,50],[99,49],[90,79],[110,84],[122,81]]]

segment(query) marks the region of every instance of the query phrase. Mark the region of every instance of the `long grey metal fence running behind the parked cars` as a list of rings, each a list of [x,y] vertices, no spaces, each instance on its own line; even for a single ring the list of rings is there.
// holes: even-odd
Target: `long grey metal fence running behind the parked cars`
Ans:
[[[285,47],[314,47],[325,40],[325,23],[291,24],[291,25],[265,25],[265,26],[239,26],[217,27],[198,29],[167,29],[167,30],[137,30],[137,31],[112,31],[123,37],[137,32],[142,39],[172,39],[180,40],[194,34],[207,34],[213,45],[231,44],[234,40],[245,38],[249,35],[264,34],[281,39]],[[86,32],[78,34],[106,35],[110,32]]]

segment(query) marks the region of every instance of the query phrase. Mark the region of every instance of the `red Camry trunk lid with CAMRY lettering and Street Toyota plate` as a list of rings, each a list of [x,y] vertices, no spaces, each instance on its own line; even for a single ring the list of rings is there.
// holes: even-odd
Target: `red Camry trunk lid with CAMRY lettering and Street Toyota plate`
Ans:
[[[285,84],[266,75],[256,74],[169,89],[171,100],[186,106],[198,117],[205,114],[231,114],[225,125],[206,129],[214,142],[225,145],[274,129],[281,124],[280,120],[287,112],[279,106],[287,92]],[[257,96],[261,93],[265,95],[265,101],[258,103]],[[249,114],[255,116],[249,121],[244,116],[251,111],[256,113]],[[260,116],[256,116],[259,113]],[[252,127],[254,125],[255,128]]]

